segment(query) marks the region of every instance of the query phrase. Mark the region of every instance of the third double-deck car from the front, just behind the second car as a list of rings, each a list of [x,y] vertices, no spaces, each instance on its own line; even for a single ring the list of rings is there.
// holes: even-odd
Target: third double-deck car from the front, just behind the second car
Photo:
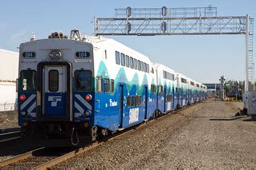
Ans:
[[[178,105],[181,107],[188,105],[189,102],[189,97],[188,97],[188,77],[181,73],[176,73],[177,74],[177,90],[178,90],[178,97],[179,97],[179,102]]]

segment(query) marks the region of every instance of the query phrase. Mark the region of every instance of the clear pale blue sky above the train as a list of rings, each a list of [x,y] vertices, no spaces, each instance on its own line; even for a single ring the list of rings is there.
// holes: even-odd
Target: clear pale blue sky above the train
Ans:
[[[255,0],[8,0],[0,1],[0,49],[18,51],[19,44],[28,41],[33,34],[35,38],[41,39],[54,31],[68,35],[72,29],[77,29],[83,34],[92,35],[93,18],[114,17],[116,8],[209,5],[217,7],[217,16],[250,14],[256,18]],[[216,83],[221,75],[228,80],[245,79],[243,35],[108,38],[128,45],[148,56],[151,61],[165,64],[202,83]]]

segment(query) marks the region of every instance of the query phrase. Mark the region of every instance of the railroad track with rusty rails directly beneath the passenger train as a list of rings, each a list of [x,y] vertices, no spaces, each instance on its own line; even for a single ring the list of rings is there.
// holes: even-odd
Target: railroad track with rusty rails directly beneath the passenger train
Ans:
[[[197,105],[193,104],[193,105]],[[187,105],[181,109],[178,109],[176,111],[172,111],[168,114],[163,114],[161,117],[157,117],[156,119],[146,121],[143,124],[136,125],[131,128],[124,129],[123,131],[116,132],[112,136],[108,136],[104,138],[103,140],[100,140],[98,142],[92,143],[92,144],[87,144],[83,148],[76,148],[71,151],[67,150],[60,150],[59,148],[37,148],[33,151],[22,153],[18,156],[14,156],[13,158],[10,158],[8,160],[3,160],[0,162],[0,168],[11,168],[14,169],[16,167],[19,168],[28,168],[28,169],[48,169],[51,168],[52,166],[59,164],[63,162],[64,160],[68,160],[71,157],[77,156],[83,152],[87,152],[91,150],[92,148],[97,148],[101,144],[104,144],[104,142],[109,141],[109,140],[114,140],[117,137],[124,136],[128,132],[132,132],[132,130],[135,130],[136,128],[141,128],[144,127],[145,125],[152,124],[152,122],[161,120],[164,117],[170,116],[173,113],[179,113],[184,109],[187,109],[193,105]],[[59,150],[58,150],[59,149]]]

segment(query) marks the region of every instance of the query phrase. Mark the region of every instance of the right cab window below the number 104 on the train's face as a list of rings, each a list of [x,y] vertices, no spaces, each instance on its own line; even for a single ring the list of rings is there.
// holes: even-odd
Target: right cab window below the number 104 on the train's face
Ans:
[[[91,71],[76,70],[75,71],[75,90],[76,91],[91,91]]]

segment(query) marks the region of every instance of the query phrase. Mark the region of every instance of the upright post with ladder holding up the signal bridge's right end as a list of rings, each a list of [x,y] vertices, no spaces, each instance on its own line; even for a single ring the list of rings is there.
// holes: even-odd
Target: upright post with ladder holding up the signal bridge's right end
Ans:
[[[245,56],[245,93],[248,92],[248,38],[249,38],[249,15],[246,14],[246,56]]]

